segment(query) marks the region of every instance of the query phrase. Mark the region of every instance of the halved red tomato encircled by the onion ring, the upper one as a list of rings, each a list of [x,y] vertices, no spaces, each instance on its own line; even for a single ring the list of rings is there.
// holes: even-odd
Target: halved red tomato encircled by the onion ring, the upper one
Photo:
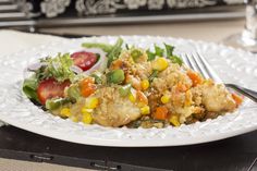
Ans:
[[[74,52],[71,58],[73,59],[74,64],[83,71],[89,70],[97,62],[97,56],[87,51]]]

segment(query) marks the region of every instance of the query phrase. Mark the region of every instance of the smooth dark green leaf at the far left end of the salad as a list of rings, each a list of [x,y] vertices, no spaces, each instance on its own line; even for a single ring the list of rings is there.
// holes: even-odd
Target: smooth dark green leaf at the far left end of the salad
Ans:
[[[23,82],[23,91],[32,100],[39,101],[37,97],[38,82],[35,76]]]

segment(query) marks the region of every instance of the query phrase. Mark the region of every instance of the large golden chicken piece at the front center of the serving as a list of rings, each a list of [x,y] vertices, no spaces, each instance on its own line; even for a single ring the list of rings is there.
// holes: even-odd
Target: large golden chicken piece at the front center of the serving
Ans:
[[[119,87],[99,88],[95,97],[100,99],[93,113],[94,121],[103,126],[122,126],[140,117],[140,110],[127,98],[121,97]]]

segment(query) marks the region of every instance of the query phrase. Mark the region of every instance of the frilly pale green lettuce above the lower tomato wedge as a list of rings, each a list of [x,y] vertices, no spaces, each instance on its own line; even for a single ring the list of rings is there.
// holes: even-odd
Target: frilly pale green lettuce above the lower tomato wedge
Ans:
[[[70,69],[73,65],[73,60],[69,53],[58,53],[56,58],[46,58],[42,62],[46,62],[47,66],[36,72],[39,80],[54,77],[58,82],[64,82],[65,80],[72,81],[75,76]]]

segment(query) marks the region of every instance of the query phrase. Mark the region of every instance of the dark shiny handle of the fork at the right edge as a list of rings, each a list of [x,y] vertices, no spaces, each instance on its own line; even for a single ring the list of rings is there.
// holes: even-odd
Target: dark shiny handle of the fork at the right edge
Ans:
[[[225,84],[227,87],[237,90],[242,95],[248,97],[253,101],[257,102],[257,91],[235,85],[235,84]]]

